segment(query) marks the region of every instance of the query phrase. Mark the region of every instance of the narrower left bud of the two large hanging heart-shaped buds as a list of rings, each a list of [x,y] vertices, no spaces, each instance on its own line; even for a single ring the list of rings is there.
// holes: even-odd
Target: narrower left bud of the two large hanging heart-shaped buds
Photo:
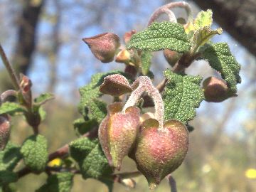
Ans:
[[[107,117],[99,127],[102,150],[110,166],[120,169],[122,159],[132,148],[139,132],[139,108],[129,107],[122,113],[122,103],[108,106]]]

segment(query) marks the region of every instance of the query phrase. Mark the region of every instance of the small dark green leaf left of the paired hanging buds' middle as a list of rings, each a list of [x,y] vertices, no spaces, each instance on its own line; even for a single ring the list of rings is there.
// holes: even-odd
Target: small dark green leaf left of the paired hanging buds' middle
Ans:
[[[99,124],[96,119],[89,119],[85,121],[85,119],[80,118],[73,122],[74,129],[77,130],[79,134],[85,134],[98,125]]]

